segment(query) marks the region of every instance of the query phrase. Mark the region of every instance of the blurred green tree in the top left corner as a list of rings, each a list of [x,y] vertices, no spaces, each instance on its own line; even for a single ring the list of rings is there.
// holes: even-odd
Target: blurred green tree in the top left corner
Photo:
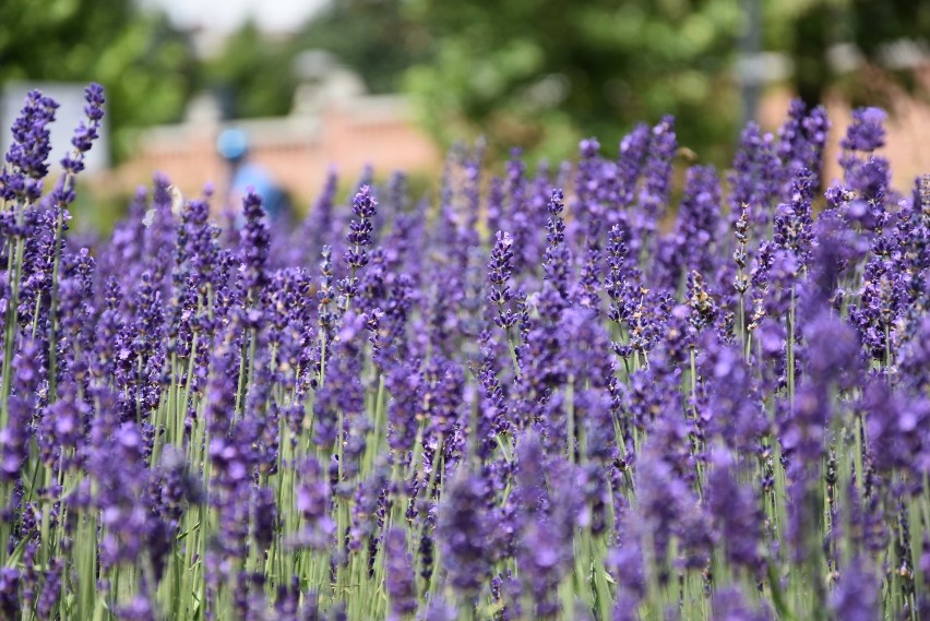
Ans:
[[[117,159],[132,146],[132,128],[183,114],[198,65],[164,14],[131,0],[3,0],[0,15],[0,85],[102,83]]]

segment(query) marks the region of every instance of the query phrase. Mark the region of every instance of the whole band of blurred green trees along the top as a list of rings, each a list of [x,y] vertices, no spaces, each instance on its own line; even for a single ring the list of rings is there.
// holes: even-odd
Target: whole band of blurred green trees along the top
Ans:
[[[199,89],[218,93],[231,116],[286,114],[293,59],[322,49],[370,91],[412,94],[446,146],[480,133],[497,155],[521,145],[564,157],[582,136],[619,138],[672,114],[681,144],[724,163],[753,2],[761,49],[790,59],[787,80],[808,104],[836,87],[855,104],[882,103],[868,72],[831,65],[836,44],[914,89],[913,72],[886,62],[902,40],[926,53],[930,3],[914,0],[334,0],[289,38],[246,24],[207,60],[132,0],[5,0],[4,23],[15,27],[0,29],[0,83],[104,83],[119,157],[131,128],[179,119]]]

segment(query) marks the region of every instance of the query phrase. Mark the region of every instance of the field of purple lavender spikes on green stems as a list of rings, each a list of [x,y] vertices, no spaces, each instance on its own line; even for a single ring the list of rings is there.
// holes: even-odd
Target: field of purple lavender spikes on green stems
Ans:
[[[103,106],[59,178],[33,93],[0,175],[0,618],[930,618],[930,176],[881,110],[680,184],[670,117],[462,147],[290,228],[156,177],[83,248]]]

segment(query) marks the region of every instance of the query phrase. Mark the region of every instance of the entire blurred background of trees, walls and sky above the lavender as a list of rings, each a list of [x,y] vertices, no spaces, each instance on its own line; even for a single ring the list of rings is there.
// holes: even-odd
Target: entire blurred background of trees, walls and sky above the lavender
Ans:
[[[741,127],[775,130],[794,96],[827,106],[834,148],[851,107],[884,107],[895,183],[930,171],[925,0],[0,0],[0,145],[40,87],[62,101],[58,157],[83,86],[106,87],[85,180],[102,228],[155,170],[196,194],[248,162],[302,212],[331,165],[426,183],[479,135],[491,164],[588,135],[610,156],[664,114],[726,168]]]

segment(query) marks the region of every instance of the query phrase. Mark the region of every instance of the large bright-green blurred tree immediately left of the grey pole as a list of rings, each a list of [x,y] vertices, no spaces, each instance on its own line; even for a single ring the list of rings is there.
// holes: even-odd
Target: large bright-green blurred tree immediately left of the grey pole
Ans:
[[[551,155],[663,112],[685,145],[735,131],[737,0],[416,0],[407,10],[436,44],[408,84],[444,142],[461,138],[462,119],[499,145]]]

